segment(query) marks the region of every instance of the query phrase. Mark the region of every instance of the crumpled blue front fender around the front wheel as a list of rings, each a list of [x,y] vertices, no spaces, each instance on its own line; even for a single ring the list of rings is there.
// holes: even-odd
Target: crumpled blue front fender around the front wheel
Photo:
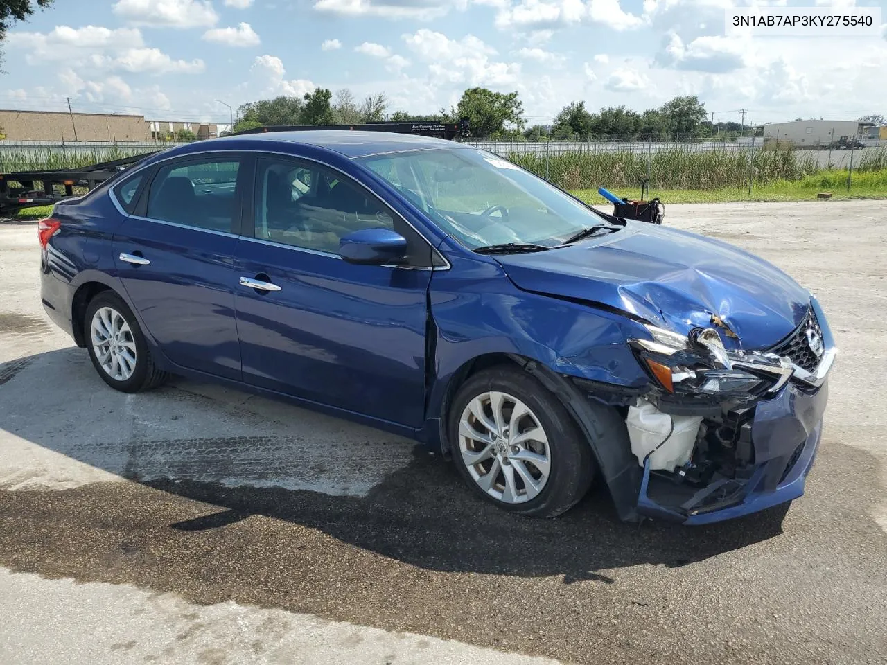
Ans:
[[[648,376],[626,343],[640,334],[640,324],[612,311],[521,291],[498,264],[468,260],[469,265],[459,266],[461,259],[448,258],[453,270],[436,272],[429,293],[434,370],[427,432],[437,429],[445,449],[447,404],[465,368],[485,356],[509,356],[568,408],[593,450],[619,516],[631,520],[640,471],[624,422],[615,409],[592,403],[569,378],[646,386]]]

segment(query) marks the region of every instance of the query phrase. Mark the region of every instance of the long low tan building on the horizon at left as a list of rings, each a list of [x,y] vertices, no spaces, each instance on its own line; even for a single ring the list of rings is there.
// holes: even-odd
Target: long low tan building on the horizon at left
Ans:
[[[208,122],[145,120],[125,113],[60,113],[0,110],[0,134],[10,141],[150,141],[175,135],[179,129],[198,138],[218,136]]]

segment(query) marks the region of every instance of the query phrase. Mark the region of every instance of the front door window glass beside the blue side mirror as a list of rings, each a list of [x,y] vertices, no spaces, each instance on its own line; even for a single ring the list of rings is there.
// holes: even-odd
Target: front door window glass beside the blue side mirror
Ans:
[[[255,238],[338,254],[353,231],[395,230],[380,200],[332,170],[268,158],[255,177]]]

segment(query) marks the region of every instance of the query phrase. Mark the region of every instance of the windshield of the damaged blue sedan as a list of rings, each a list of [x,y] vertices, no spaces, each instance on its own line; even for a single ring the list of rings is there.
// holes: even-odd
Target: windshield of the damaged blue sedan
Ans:
[[[545,180],[481,150],[423,150],[357,160],[471,249],[553,247],[609,225]]]

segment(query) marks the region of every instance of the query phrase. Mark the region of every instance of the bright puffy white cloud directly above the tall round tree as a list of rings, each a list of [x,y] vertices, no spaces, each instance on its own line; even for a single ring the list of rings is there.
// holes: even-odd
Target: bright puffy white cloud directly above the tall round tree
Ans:
[[[520,80],[521,65],[491,60],[496,50],[475,35],[455,40],[421,28],[403,38],[420,59],[428,61],[428,73],[437,82],[514,88]]]

